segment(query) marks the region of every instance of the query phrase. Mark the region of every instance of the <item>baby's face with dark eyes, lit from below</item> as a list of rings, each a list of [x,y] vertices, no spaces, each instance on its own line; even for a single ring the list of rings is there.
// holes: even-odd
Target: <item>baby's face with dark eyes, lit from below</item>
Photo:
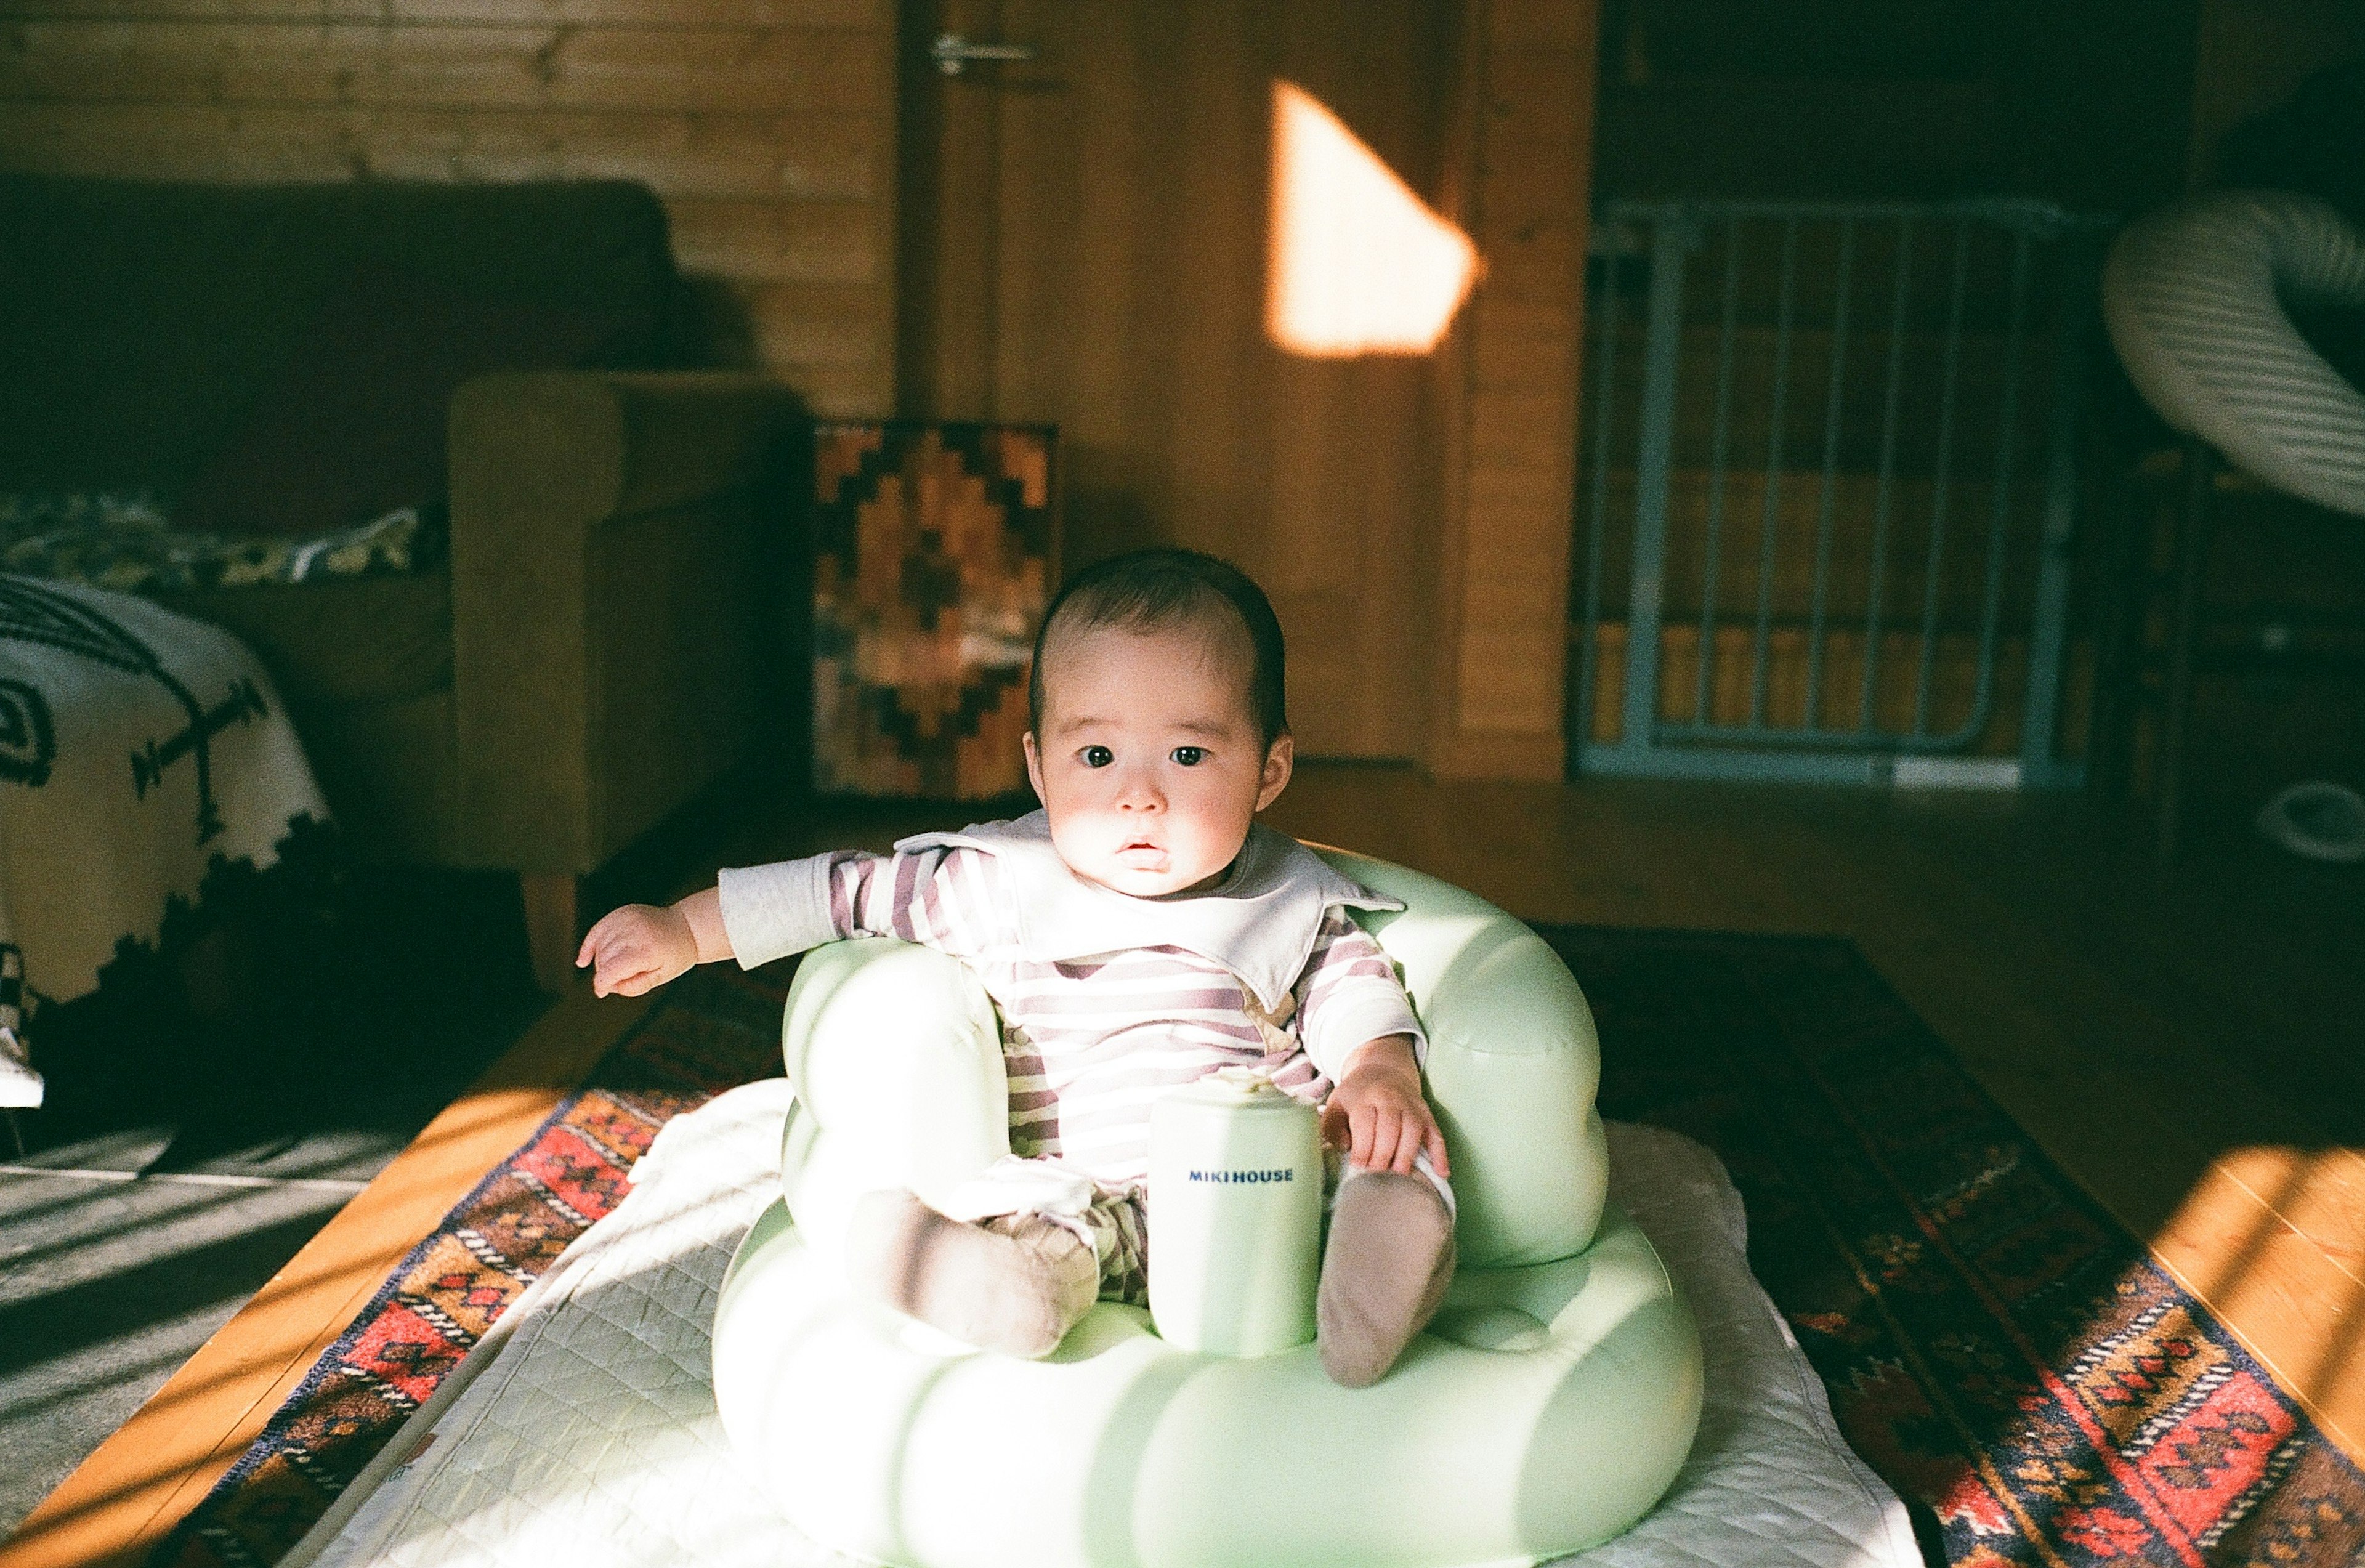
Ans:
[[[1289,783],[1242,660],[1194,629],[1097,627],[1043,650],[1043,733],[1026,776],[1076,875],[1138,899],[1213,885]]]

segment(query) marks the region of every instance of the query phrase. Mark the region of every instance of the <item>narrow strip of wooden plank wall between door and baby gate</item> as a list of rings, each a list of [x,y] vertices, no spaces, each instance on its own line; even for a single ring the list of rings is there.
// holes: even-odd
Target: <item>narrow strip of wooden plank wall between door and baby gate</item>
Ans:
[[[1445,537],[1428,766],[1563,771],[1570,487],[1599,0],[1469,0],[1447,213],[1485,277],[1440,355]]]

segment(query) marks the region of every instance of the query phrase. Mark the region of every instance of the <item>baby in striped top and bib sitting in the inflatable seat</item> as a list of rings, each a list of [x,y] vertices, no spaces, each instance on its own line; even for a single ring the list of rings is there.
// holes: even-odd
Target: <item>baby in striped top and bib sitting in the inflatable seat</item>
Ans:
[[[639,996],[693,963],[759,965],[844,937],[965,960],[1003,1019],[1003,1197],[958,1218],[866,1194],[854,1287],[967,1343],[1045,1355],[1100,1296],[1140,1301],[1149,1104],[1223,1067],[1272,1071],[1346,1147],[1317,1296],[1324,1372],[1360,1388],[1436,1313],[1454,1268],[1426,1041],[1346,911],[1402,908],[1253,818],[1289,783],[1282,629],[1194,551],[1090,568],[1050,605],[1029,686],[1043,809],[724,870],[672,908],[605,915],[577,965]],[[972,1183],[977,1187],[977,1183]]]

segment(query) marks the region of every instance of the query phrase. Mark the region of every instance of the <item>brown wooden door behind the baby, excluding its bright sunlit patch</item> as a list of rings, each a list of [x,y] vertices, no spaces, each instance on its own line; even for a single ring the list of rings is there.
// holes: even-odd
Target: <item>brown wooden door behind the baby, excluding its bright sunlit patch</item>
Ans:
[[[911,407],[1057,423],[1067,570],[1164,542],[1237,561],[1289,636],[1301,754],[1417,754],[1443,461],[1431,369],[1270,341],[1272,95],[1313,95],[1436,203],[1459,7],[906,9],[911,35],[1041,50],[906,78]]]

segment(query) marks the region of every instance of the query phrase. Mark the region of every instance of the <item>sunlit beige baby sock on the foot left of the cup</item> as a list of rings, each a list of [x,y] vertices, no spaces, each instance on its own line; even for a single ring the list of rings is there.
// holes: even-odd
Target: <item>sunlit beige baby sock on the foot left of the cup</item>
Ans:
[[[979,1350],[1050,1355],[1100,1296],[1083,1239],[1034,1213],[967,1225],[903,1190],[866,1192],[847,1232],[854,1289]]]

